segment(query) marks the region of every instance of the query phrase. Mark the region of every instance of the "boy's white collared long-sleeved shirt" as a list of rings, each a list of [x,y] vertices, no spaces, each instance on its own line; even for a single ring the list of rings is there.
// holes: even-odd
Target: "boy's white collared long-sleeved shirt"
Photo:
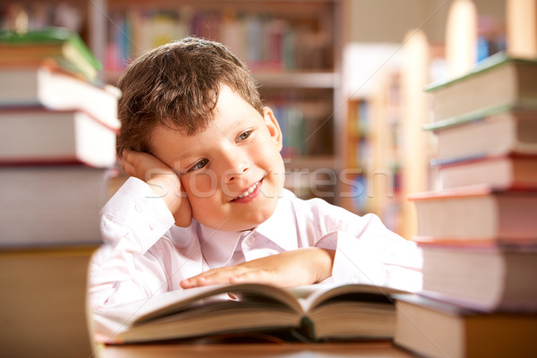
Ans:
[[[337,283],[422,287],[422,256],[414,243],[389,231],[379,217],[363,217],[320,199],[284,190],[267,221],[251,231],[225,232],[174,225],[164,200],[130,178],[101,210],[105,244],[90,269],[92,308],[130,303],[180,290],[179,281],[208,270],[303,247],[336,250]]]

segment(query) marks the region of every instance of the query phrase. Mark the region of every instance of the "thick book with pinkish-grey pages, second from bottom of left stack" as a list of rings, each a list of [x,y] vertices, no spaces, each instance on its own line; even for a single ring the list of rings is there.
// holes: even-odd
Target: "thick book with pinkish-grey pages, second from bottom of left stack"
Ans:
[[[100,243],[110,169],[0,166],[0,248]]]

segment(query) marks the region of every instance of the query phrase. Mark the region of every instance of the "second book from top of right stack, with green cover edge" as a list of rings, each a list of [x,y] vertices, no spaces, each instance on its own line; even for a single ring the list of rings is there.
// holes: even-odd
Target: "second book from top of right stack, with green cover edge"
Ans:
[[[424,129],[435,134],[436,165],[507,154],[537,155],[537,106],[500,105],[488,114],[434,122]]]

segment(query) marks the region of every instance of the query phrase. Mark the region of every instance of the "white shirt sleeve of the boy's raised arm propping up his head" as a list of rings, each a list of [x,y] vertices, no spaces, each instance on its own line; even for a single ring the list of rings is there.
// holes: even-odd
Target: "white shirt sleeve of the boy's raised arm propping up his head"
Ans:
[[[100,215],[104,243],[90,266],[91,308],[133,302],[166,291],[162,263],[146,254],[174,225],[164,200],[147,183],[129,178]]]

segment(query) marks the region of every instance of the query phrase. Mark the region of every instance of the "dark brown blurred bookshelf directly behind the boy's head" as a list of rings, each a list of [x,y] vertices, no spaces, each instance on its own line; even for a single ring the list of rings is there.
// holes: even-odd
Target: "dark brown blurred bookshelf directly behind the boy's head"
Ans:
[[[274,107],[286,135],[283,155],[292,177],[288,188],[304,198],[337,202],[334,176],[340,121],[335,108],[339,90],[340,0],[70,0],[80,18],[76,29],[104,64],[102,80],[115,83],[128,62],[152,47],[189,35],[215,39],[251,69],[261,98]],[[57,25],[50,9],[59,2],[0,4],[11,13],[2,27],[13,27],[20,13],[30,26]],[[66,5],[65,5],[66,6]],[[38,11],[36,9],[45,9]],[[47,13],[43,15],[42,13]],[[11,19],[11,20],[9,20]],[[66,20],[64,20],[65,22]],[[61,22],[61,21],[60,21]],[[40,24],[40,25],[39,25]],[[300,180],[296,172],[300,172]],[[317,176],[321,177],[317,180]],[[322,191],[294,184],[319,185]],[[315,195],[314,192],[318,192]]]

